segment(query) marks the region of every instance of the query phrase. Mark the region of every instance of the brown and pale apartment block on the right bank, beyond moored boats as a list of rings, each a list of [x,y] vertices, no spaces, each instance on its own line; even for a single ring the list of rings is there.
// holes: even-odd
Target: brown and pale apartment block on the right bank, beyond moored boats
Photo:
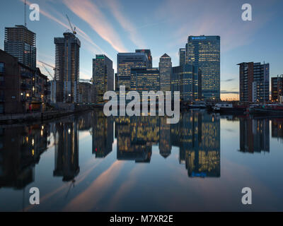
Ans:
[[[241,63],[240,101],[269,102],[270,100],[270,64]]]

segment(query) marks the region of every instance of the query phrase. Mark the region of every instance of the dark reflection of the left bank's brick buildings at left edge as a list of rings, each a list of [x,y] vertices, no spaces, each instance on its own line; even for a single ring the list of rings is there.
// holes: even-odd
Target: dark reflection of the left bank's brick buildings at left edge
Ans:
[[[0,127],[0,188],[18,190],[34,182],[35,165],[47,150],[47,127]]]

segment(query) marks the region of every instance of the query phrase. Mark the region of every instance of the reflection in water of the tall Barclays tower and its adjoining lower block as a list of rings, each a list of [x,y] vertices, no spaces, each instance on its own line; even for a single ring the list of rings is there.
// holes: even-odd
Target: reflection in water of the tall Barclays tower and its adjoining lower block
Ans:
[[[201,112],[184,113],[172,126],[173,145],[189,177],[220,177],[220,119]]]

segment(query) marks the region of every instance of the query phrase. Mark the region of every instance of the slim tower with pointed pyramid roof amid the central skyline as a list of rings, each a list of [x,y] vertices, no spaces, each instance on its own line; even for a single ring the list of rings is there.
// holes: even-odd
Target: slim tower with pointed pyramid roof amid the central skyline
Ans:
[[[171,57],[164,54],[159,60],[160,71],[160,90],[163,92],[171,91],[171,71],[172,61]]]

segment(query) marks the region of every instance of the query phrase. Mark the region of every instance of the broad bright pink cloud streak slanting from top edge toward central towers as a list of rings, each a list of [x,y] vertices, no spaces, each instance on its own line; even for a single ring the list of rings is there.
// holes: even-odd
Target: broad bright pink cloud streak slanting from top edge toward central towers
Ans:
[[[113,49],[117,52],[127,52],[127,49],[120,40],[120,36],[96,4],[89,0],[63,0],[63,2],[76,16],[79,16],[79,18],[88,23]]]

